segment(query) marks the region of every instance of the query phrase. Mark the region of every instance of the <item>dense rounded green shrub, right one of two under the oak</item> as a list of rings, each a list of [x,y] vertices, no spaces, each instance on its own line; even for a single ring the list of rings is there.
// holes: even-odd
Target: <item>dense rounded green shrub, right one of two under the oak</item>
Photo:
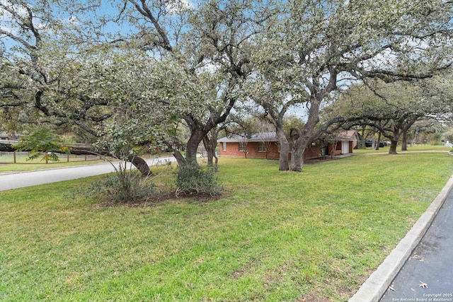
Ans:
[[[176,197],[185,194],[210,194],[218,195],[223,187],[218,184],[216,168],[208,165],[199,167],[196,163],[188,163],[179,167],[176,172]]]

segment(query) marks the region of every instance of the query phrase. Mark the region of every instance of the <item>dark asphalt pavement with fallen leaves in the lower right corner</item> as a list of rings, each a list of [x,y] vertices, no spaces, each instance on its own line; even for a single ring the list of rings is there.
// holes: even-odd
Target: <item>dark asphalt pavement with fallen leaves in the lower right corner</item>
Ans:
[[[453,301],[453,190],[381,302]]]

